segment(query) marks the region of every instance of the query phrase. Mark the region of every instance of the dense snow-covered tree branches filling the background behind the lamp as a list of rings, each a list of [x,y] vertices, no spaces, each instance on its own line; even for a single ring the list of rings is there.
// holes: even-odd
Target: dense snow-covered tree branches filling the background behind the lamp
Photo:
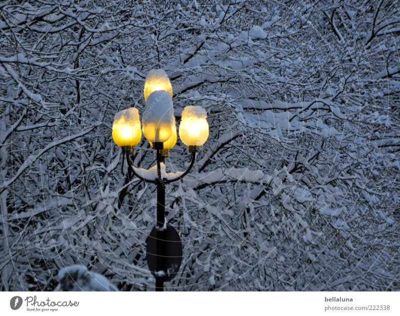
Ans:
[[[398,5],[398,4],[397,4]],[[10,0],[0,5],[1,290],[83,265],[153,290],[155,186],[121,171],[118,111],[163,69],[209,138],[166,219],[170,290],[398,290],[396,2]],[[140,150],[139,150],[140,149]],[[135,165],[154,165],[142,137]],[[168,172],[189,162],[178,139]]]

